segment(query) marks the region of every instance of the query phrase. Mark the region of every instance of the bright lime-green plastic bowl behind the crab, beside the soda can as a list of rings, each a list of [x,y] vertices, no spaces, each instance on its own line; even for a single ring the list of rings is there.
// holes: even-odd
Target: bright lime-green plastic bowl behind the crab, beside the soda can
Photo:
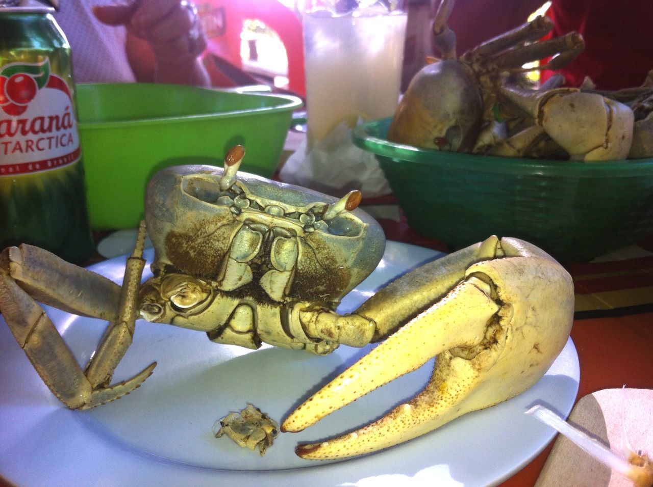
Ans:
[[[236,144],[246,149],[242,171],[272,176],[302,106],[294,96],[148,83],[80,84],[76,96],[93,229],[138,226],[156,171],[221,167]]]

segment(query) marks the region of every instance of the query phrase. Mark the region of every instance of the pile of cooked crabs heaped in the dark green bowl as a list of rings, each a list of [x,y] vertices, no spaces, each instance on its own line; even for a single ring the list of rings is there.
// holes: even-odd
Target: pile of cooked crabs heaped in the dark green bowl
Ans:
[[[598,91],[590,79],[579,88],[564,87],[560,75],[537,89],[525,87],[520,74],[573,61],[584,49],[581,35],[538,42],[553,27],[539,16],[458,57],[447,27],[453,5],[443,0],[438,7],[432,34],[441,56],[411,80],[390,125],[390,141],[529,158],[653,156],[653,70],[640,87],[618,91]],[[535,62],[541,59],[549,61]]]

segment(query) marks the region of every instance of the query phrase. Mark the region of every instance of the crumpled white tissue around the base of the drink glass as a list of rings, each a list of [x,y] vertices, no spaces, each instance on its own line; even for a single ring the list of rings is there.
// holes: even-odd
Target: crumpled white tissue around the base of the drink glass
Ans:
[[[374,154],[354,145],[351,128],[346,122],[313,144],[308,153],[306,145],[306,140],[302,141],[279,171],[284,183],[297,184],[337,198],[351,190],[359,190],[363,198],[392,192]]]

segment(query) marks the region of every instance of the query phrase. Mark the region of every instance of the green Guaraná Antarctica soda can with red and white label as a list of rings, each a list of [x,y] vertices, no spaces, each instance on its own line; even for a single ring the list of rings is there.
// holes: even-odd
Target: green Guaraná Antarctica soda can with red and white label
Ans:
[[[73,263],[93,253],[71,48],[36,0],[0,0],[0,250],[29,243]]]

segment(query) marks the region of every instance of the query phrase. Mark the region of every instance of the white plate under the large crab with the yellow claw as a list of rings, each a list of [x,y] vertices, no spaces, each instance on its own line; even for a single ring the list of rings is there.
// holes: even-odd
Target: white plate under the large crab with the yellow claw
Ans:
[[[377,270],[347,296],[340,311],[355,308],[374,289],[439,255],[389,242]],[[111,259],[92,269],[119,281],[123,262]],[[86,363],[104,323],[49,312]],[[154,374],[129,396],[80,412],[61,406],[50,394],[2,322],[0,475],[25,487],[496,484],[534,458],[554,435],[524,411],[539,402],[566,417],[578,389],[578,356],[569,340],[547,375],[520,396],[370,456],[311,462],[297,458],[294,449],[298,442],[365,424],[413,396],[428,381],[432,361],[304,432],[279,435],[264,457],[212,435],[215,421],[247,402],[281,420],[365,351],[340,347],[327,357],[273,347],[250,351],[213,344],[201,332],[139,321],[114,381],[158,361]]]

